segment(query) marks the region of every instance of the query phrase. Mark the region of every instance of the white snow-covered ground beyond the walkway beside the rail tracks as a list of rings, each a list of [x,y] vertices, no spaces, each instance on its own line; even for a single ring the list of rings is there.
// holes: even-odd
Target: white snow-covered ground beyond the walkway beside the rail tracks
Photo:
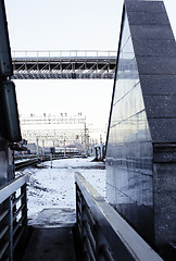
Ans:
[[[21,173],[29,175],[27,187],[28,216],[47,208],[76,208],[75,172],[85,178],[105,197],[104,163],[92,162],[92,158],[63,159],[45,162],[43,169],[28,167]]]

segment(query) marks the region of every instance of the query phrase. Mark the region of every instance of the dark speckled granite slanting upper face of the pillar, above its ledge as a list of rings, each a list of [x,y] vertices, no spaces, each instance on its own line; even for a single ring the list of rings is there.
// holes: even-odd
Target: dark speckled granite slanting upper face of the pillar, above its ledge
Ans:
[[[164,3],[124,0],[124,5],[152,141],[176,142],[176,42]]]

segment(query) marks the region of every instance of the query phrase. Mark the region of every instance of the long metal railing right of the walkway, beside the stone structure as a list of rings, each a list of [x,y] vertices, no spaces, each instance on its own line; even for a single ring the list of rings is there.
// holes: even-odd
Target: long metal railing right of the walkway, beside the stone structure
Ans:
[[[81,260],[162,260],[79,173],[75,178]]]

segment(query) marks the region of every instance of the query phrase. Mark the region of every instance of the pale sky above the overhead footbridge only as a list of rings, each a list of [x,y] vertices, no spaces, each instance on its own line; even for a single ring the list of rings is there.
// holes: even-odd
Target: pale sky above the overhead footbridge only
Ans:
[[[165,0],[174,30],[175,0]],[[123,0],[5,0],[12,50],[116,50]]]

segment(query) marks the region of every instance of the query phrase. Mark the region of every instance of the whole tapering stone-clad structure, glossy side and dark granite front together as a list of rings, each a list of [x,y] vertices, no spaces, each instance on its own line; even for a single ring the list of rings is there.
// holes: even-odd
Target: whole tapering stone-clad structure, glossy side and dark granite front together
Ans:
[[[130,60],[128,71],[122,72],[121,58]],[[108,133],[106,198],[169,260],[176,240],[175,146],[176,44],[164,4],[125,0]]]

